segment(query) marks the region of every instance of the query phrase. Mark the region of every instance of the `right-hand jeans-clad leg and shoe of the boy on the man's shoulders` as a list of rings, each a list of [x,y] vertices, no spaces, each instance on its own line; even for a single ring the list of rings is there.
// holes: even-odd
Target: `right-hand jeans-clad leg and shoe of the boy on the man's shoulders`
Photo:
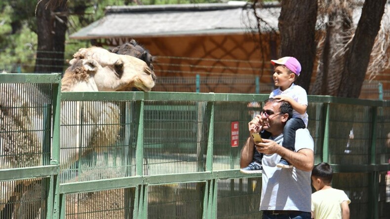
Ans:
[[[295,132],[298,129],[306,128],[305,122],[300,118],[291,118],[287,121],[286,125],[283,129],[283,144],[282,146],[289,149],[295,150]],[[281,158],[280,161],[282,163],[286,163],[289,166],[288,162]],[[283,165],[278,165],[279,167],[285,167]]]

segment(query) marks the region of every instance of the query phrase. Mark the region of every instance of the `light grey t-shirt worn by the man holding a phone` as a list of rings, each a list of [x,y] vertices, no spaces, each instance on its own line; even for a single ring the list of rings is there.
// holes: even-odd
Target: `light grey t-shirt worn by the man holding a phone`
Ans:
[[[273,141],[280,144],[283,135]],[[295,151],[314,149],[314,142],[308,129],[298,129],[295,136]],[[264,154],[260,211],[291,210],[311,212],[312,172],[276,167],[280,155]]]

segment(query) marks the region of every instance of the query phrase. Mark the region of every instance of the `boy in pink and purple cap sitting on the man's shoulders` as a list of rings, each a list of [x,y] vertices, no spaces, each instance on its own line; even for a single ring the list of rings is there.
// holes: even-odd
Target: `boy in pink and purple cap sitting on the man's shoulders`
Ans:
[[[275,86],[279,88],[273,90],[270,94],[270,98],[279,99],[279,101],[288,102],[293,108],[293,116],[290,118],[283,130],[283,143],[282,146],[289,150],[295,149],[295,132],[297,129],[306,128],[308,126],[309,116],[306,112],[308,108],[308,96],[306,90],[299,85],[295,85],[294,81],[301,73],[301,64],[294,57],[283,57],[278,60],[271,60],[274,66],[273,81]],[[261,113],[262,118],[268,118],[267,112]],[[259,127],[251,127],[251,132],[259,130]],[[270,133],[264,131],[261,137],[268,139]],[[262,173],[261,159],[263,154],[260,154],[255,150],[253,156],[253,162],[247,167],[240,169],[241,173]],[[276,165],[280,168],[292,168],[292,165],[288,163],[283,157]]]

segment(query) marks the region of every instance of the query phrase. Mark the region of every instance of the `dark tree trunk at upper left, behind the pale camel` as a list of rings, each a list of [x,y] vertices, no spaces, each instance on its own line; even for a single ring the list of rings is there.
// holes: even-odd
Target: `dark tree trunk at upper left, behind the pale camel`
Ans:
[[[38,51],[34,72],[62,73],[67,17],[55,17],[53,10],[46,8],[47,2],[49,0],[42,0],[37,6]],[[62,2],[55,11],[65,12],[65,3]]]

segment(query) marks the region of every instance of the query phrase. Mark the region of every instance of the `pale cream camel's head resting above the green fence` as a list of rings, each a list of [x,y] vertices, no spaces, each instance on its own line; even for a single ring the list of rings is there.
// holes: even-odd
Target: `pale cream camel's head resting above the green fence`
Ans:
[[[118,91],[155,86],[148,65],[135,57],[111,53],[100,47],[81,48],[62,79],[62,91]]]

